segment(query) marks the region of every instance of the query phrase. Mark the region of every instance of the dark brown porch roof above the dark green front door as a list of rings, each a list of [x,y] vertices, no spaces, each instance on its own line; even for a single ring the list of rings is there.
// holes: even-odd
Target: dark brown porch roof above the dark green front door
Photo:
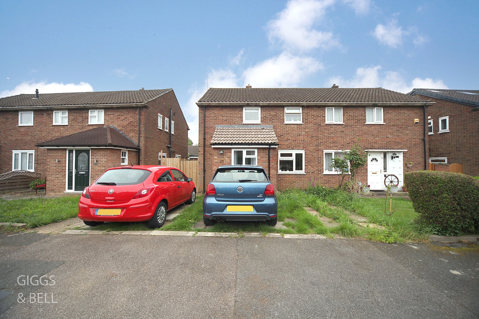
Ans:
[[[88,131],[62,136],[35,146],[114,146],[139,149],[138,145],[115,127],[106,125]]]

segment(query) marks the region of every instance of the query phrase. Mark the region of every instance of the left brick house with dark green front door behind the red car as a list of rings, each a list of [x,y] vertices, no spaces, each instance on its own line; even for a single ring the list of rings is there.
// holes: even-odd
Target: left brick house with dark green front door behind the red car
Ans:
[[[173,89],[20,94],[0,99],[0,174],[47,177],[49,194],[81,193],[108,167],[188,156]]]

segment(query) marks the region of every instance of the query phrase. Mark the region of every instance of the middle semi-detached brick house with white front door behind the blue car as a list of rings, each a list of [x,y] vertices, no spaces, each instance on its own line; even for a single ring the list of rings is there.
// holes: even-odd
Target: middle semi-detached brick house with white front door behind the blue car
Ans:
[[[405,172],[426,166],[424,114],[433,103],[419,97],[336,85],[209,88],[196,104],[202,190],[226,164],[262,165],[279,189],[337,186],[331,160],[358,138],[368,153],[358,178],[371,189],[385,189],[390,174],[402,186]]]

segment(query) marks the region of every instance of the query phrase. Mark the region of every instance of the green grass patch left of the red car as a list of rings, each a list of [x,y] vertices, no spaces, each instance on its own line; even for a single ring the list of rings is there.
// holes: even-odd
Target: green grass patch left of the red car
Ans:
[[[34,228],[77,216],[80,196],[0,199],[0,222],[26,223]]]

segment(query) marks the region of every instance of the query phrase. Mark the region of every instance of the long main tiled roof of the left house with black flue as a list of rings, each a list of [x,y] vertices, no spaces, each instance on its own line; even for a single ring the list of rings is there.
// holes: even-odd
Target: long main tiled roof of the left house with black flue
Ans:
[[[114,105],[140,104],[171,91],[172,88],[136,91],[105,92],[73,92],[73,93],[41,93],[38,99],[35,94],[19,94],[0,99],[1,108],[62,106],[62,105]],[[41,89],[40,89],[41,91]]]

